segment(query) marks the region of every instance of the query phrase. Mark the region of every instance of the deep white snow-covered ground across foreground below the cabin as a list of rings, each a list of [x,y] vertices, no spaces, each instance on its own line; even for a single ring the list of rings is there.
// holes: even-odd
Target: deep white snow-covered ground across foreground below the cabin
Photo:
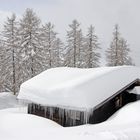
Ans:
[[[26,114],[25,107],[2,109],[0,110],[0,139],[140,140],[140,101],[126,105],[103,123],[67,128],[51,120]]]

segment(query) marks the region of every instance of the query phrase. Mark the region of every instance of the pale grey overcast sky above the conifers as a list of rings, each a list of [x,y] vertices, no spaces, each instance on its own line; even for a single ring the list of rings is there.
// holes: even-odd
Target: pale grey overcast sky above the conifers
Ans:
[[[92,24],[105,50],[117,23],[130,45],[132,58],[140,66],[139,7],[140,0],[0,0],[0,27],[11,12],[21,16],[26,8],[32,8],[43,22],[55,24],[62,39],[73,19],[81,23],[84,33]]]

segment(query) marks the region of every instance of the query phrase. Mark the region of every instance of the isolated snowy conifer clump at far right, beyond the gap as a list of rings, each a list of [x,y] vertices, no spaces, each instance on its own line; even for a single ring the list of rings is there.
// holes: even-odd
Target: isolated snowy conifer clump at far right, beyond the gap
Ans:
[[[115,25],[113,40],[106,50],[107,66],[133,65],[129,53],[130,49],[126,40],[120,36],[119,26]]]

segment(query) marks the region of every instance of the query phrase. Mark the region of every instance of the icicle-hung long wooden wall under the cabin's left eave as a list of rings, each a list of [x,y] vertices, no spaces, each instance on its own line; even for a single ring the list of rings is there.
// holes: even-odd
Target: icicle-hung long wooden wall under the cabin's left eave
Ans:
[[[86,123],[83,111],[31,103],[28,104],[28,113],[51,119],[64,127]]]

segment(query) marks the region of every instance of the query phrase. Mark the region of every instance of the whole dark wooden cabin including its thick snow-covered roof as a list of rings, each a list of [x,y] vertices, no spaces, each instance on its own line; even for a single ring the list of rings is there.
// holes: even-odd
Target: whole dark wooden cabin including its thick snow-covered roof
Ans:
[[[18,98],[31,101],[28,113],[63,126],[99,123],[139,98],[139,79],[134,66],[53,68],[23,83]]]

